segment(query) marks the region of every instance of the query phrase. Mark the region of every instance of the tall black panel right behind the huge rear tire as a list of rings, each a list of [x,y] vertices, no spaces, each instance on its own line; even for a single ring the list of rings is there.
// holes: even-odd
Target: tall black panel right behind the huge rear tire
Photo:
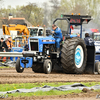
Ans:
[[[95,72],[95,46],[86,46],[87,48],[87,64],[85,68],[86,74],[94,74]]]

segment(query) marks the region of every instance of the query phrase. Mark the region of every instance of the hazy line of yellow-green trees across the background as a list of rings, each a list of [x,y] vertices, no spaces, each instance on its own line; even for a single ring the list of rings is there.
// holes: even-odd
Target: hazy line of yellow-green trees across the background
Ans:
[[[100,0],[49,0],[49,3],[44,2],[41,7],[36,3],[28,3],[15,8],[11,5],[4,8],[3,0],[0,0],[0,27],[2,27],[2,18],[7,18],[9,13],[14,17],[24,17],[34,26],[46,25],[47,27],[51,26],[53,20],[61,14],[88,14],[100,26],[99,5]]]

